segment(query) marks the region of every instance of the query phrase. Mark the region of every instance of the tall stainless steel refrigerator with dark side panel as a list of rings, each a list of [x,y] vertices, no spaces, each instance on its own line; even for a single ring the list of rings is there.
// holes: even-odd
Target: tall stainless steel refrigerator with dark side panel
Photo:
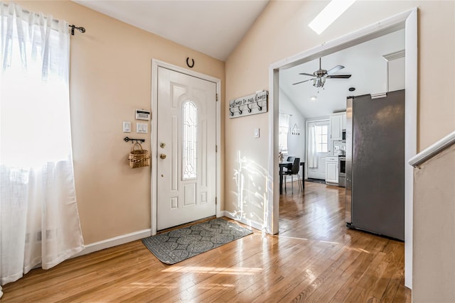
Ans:
[[[405,240],[405,90],[348,97],[346,223]]]

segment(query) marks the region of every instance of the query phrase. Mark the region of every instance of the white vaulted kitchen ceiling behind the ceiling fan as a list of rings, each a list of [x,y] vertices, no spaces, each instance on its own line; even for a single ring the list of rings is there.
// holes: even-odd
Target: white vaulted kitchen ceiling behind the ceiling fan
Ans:
[[[336,65],[344,68],[334,75],[352,75],[349,79],[327,79],[323,89],[313,87],[311,79],[299,75],[301,72],[312,74],[319,69],[319,60],[311,60],[302,65],[283,70],[279,75],[281,98],[288,99],[305,118],[328,116],[336,111],[346,110],[346,97],[362,94],[387,92],[387,61],[384,55],[405,49],[405,30],[383,35],[374,40],[355,45],[345,50],[321,58],[324,70]],[[355,91],[348,89],[354,87]],[[317,101],[311,101],[316,96]]]

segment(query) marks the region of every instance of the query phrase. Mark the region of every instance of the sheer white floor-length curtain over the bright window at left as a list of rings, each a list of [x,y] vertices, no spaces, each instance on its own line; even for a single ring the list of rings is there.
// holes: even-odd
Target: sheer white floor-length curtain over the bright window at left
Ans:
[[[15,4],[0,2],[0,13],[4,285],[36,265],[51,268],[84,246],[71,153],[68,23]]]

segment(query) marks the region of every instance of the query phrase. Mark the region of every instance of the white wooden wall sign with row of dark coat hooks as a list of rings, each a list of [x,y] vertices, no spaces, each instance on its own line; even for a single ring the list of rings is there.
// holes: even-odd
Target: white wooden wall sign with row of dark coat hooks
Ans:
[[[261,91],[229,101],[229,118],[267,113],[267,96],[269,92]]]

